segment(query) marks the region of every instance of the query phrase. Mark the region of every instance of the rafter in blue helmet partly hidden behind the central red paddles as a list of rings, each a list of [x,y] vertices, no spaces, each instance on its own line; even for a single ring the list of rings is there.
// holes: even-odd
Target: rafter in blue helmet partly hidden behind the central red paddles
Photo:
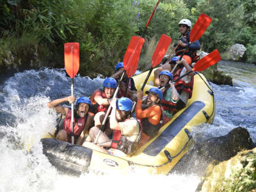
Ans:
[[[113,74],[111,77],[116,79],[116,81],[118,82],[118,81],[120,81],[123,72],[124,72],[124,63],[119,62],[115,66],[115,74]],[[129,81],[128,88],[127,88],[127,95],[124,95],[127,81]],[[137,93],[137,89],[135,87],[134,80],[132,78],[128,78],[127,74],[125,73],[124,77],[122,79],[122,83],[120,84],[118,98],[125,96],[125,97],[130,98],[131,100],[134,100],[135,99],[134,95],[136,95],[136,93]]]

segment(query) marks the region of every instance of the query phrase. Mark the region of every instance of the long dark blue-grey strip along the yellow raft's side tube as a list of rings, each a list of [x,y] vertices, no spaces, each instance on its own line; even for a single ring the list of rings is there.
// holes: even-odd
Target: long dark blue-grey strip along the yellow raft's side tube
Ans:
[[[205,103],[202,101],[193,102],[186,110],[184,110],[166,129],[148,145],[143,153],[148,156],[157,156],[163,148],[172,141],[172,139],[180,132],[180,130],[188,124],[188,122],[202,109]]]

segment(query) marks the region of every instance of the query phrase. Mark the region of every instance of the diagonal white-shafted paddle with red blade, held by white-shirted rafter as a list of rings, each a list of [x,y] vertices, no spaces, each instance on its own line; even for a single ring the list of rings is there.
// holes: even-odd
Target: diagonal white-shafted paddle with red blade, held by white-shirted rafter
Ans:
[[[140,60],[141,48],[142,48],[144,42],[145,42],[144,38],[141,38],[140,36],[132,36],[132,38],[130,40],[130,43],[127,47],[127,50],[125,52],[125,55],[124,55],[124,60],[123,60],[124,72],[123,72],[123,74],[120,78],[120,81],[118,82],[118,85],[117,85],[117,88],[116,88],[115,93],[113,95],[113,98],[115,98],[117,93],[119,92],[119,87],[120,87],[120,84],[122,83],[125,72],[126,72],[128,77],[133,76],[133,74],[136,72],[136,69],[138,67],[138,62]],[[97,143],[97,141],[99,139],[100,133],[102,131],[104,131],[106,120],[108,118],[108,115],[109,115],[110,111],[111,111],[111,106],[108,107],[108,111],[107,111],[107,113],[104,117],[102,125],[100,126],[99,133],[97,134],[97,137],[94,141],[95,144]]]

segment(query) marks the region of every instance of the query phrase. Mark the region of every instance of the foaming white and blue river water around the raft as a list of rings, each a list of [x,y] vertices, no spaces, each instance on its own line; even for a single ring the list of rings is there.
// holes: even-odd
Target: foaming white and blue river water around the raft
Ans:
[[[248,129],[256,141],[256,67],[221,61],[218,68],[239,86],[212,84],[216,116],[212,125],[195,127],[195,141],[227,134],[234,127]],[[104,79],[74,78],[74,95],[90,96]],[[0,84],[0,191],[195,191],[200,174],[191,167],[186,173],[148,175],[135,170],[127,175],[86,173],[61,175],[42,154],[41,136],[54,130],[56,114],[46,107],[49,100],[70,95],[70,78],[63,69],[27,70]],[[28,146],[31,146],[28,152]],[[200,157],[194,157],[194,159]],[[200,164],[198,165],[200,166]]]

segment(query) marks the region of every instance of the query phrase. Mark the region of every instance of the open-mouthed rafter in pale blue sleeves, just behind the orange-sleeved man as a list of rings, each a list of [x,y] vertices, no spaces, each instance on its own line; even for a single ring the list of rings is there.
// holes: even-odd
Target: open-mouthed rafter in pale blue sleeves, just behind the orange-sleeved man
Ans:
[[[163,92],[163,99],[161,100],[161,108],[164,110],[164,124],[166,124],[168,121],[171,120],[172,116],[175,114],[176,109],[176,103],[180,99],[180,95],[177,92],[175,88],[175,83],[172,83],[173,75],[168,70],[163,70],[159,74],[159,88]],[[170,84],[170,87],[166,88],[164,86],[168,86]]]

